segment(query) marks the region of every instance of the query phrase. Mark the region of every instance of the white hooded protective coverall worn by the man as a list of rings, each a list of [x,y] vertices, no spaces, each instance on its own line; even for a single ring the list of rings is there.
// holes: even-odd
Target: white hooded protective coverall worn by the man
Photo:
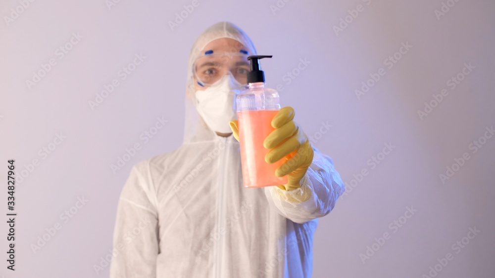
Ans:
[[[311,277],[317,218],[333,209],[343,182],[332,159],[313,147],[301,188],[243,187],[239,143],[217,136],[195,107],[193,62],[219,38],[256,53],[228,22],[212,25],[194,43],[184,143],[131,169],[118,202],[110,278]]]

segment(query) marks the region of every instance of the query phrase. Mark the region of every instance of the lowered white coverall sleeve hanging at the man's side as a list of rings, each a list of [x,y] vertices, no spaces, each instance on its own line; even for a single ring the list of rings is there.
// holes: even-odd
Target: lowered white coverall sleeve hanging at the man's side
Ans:
[[[133,166],[120,194],[110,278],[156,277],[158,214],[147,169],[144,161]]]

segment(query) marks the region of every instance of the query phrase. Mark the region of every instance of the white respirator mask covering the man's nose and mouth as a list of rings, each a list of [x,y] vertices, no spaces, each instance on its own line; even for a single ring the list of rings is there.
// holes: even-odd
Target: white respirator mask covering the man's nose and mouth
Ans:
[[[198,114],[211,130],[232,132],[229,121],[236,119],[236,96],[244,89],[245,86],[228,73],[206,89],[196,91]]]

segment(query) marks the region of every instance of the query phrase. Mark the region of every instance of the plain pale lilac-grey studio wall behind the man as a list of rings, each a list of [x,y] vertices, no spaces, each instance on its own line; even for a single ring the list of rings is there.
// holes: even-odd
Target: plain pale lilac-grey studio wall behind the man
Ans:
[[[7,159],[18,178],[16,271],[4,216],[0,275],[108,277],[129,170],[181,144],[190,47],[227,20],[273,55],[267,86],[346,183],[313,277],[495,277],[494,1],[109,1],[0,2],[3,213]]]

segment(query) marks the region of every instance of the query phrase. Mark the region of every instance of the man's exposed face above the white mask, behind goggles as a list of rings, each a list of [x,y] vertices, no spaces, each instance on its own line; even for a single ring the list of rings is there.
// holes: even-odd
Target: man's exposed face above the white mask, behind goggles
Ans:
[[[203,55],[195,63],[195,90],[204,90],[208,84],[214,83],[215,80],[223,77],[229,70],[240,83],[246,83],[249,63],[246,59],[247,55],[242,55],[241,50],[246,50],[246,47],[242,43],[233,39],[221,38],[212,40],[206,44],[201,52],[204,53],[209,50],[213,51],[211,57],[209,55]],[[227,53],[241,55],[228,55]],[[198,84],[198,77],[201,79],[200,81],[206,83],[204,86]]]

